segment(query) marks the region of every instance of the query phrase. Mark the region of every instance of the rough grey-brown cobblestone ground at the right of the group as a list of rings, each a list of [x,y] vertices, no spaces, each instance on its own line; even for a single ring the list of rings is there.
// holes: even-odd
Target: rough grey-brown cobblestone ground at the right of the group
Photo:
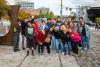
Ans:
[[[100,67],[100,31],[92,30],[90,43],[90,51],[80,52],[77,58],[80,67]]]

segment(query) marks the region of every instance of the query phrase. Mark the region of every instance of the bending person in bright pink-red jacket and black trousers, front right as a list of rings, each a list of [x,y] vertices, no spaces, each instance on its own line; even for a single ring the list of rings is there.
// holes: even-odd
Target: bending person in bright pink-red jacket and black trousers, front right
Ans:
[[[81,44],[81,36],[77,32],[76,27],[69,30],[71,44],[72,44],[72,51],[74,54],[78,54],[78,46]]]

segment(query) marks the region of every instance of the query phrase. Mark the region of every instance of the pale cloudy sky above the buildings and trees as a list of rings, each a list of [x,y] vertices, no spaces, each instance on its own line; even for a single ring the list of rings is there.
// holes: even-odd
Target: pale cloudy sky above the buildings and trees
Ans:
[[[10,5],[15,4],[15,0],[7,0]],[[19,0],[21,1],[21,0]],[[54,12],[55,15],[60,15],[61,0],[22,0],[34,2],[34,8],[47,7]],[[79,5],[95,5],[99,4],[100,0],[63,0],[63,15],[69,15],[70,11],[66,10],[66,7],[77,8]],[[75,9],[73,9],[75,11]]]

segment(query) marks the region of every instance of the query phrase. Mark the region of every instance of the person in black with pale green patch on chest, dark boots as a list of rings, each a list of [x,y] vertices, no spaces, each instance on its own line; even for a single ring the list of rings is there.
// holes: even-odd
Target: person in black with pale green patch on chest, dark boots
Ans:
[[[34,27],[32,23],[28,21],[28,26],[25,31],[26,39],[27,39],[27,56],[29,55],[29,50],[32,51],[32,55],[34,55]]]

